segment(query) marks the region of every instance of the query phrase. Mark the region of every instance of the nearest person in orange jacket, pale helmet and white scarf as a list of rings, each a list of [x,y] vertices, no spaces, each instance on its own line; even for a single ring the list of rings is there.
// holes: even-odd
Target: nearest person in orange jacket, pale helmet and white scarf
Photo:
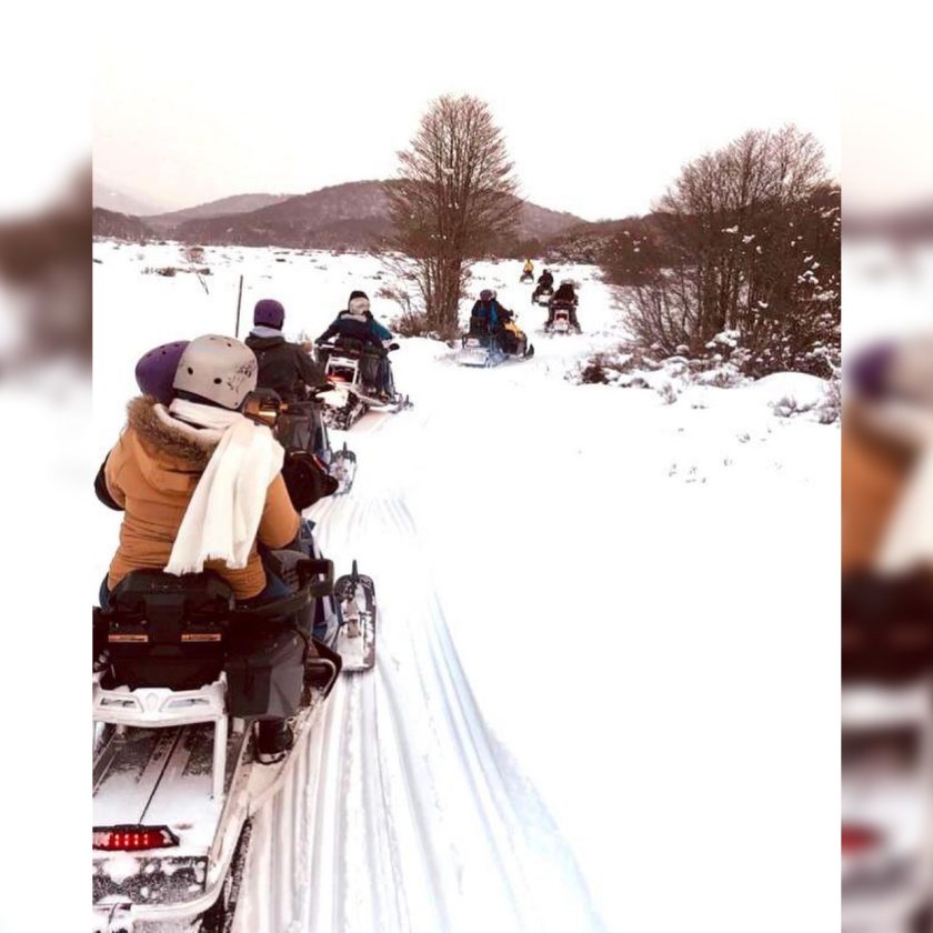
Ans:
[[[150,363],[158,368],[163,359],[171,367],[171,354]],[[282,447],[241,412],[257,372],[255,355],[239,340],[199,337],[178,358],[168,404],[152,395],[130,402],[126,430],[103,466],[107,493],[123,521],[101,585],[102,606],[127,574],[141,569],[173,575],[213,570],[245,605],[288,595],[263,568],[258,544],[287,548],[301,519],[282,478]],[[261,758],[277,760],[292,742],[283,720],[260,723]]]

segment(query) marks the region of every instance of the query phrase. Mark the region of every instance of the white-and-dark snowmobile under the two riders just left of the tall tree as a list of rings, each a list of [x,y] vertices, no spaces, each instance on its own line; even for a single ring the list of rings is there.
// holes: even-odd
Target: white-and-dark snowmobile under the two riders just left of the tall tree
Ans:
[[[394,343],[389,348],[390,351],[397,349]],[[329,427],[349,431],[368,411],[394,414],[412,407],[408,395],[395,391],[383,395],[375,389],[367,374],[375,355],[367,352],[359,340],[341,338],[334,343],[322,344],[318,351],[328,382],[334,389],[324,397],[328,408],[323,418]]]

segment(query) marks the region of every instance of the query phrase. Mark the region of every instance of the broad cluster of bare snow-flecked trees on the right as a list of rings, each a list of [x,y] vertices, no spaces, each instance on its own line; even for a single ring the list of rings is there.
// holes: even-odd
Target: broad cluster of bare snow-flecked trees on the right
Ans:
[[[794,127],[750,131],[686,165],[659,203],[656,259],[631,274],[631,325],[663,350],[701,357],[733,334],[753,373],[826,373],[837,352],[839,190],[820,144]],[[621,284],[620,280],[620,284]]]

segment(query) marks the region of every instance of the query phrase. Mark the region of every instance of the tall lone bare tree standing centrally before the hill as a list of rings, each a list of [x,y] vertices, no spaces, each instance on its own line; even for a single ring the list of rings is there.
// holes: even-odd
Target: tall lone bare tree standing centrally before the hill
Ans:
[[[442,97],[399,153],[385,195],[397,274],[414,283],[424,331],[451,335],[471,263],[514,232],[521,201],[502,131],[476,98]]]

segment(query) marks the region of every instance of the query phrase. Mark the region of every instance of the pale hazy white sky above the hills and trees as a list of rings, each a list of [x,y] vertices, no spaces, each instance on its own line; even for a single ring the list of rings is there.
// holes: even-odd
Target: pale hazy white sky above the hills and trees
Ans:
[[[96,173],[165,208],[389,177],[444,92],[489,102],[524,197],[586,219],[648,210],[753,127],[795,122],[841,169],[834,17],[799,0],[122,2],[100,23]]]

